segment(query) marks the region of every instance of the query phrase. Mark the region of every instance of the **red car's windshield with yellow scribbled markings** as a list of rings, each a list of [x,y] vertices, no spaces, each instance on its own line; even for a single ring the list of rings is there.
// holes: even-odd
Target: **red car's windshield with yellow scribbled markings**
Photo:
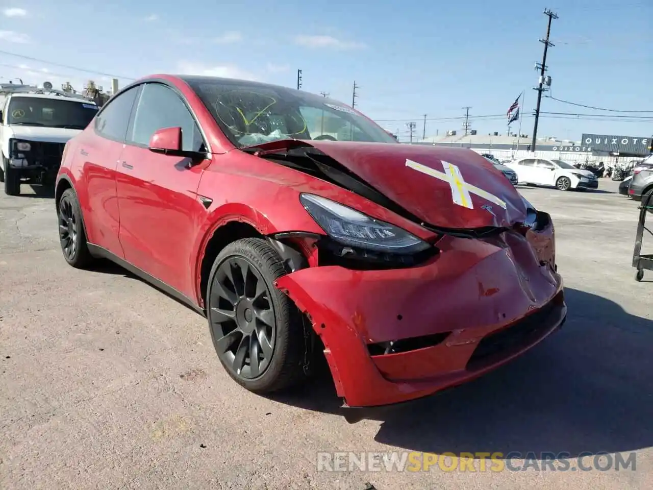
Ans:
[[[242,80],[185,81],[238,148],[289,138],[396,143],[385,129],[333,99]]]

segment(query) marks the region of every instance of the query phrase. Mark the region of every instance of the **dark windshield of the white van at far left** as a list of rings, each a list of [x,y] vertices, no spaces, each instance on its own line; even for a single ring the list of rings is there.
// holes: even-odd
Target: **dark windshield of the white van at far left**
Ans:
[[[85,129],[97,114],[97,106],[84,101],[12,97],[7,109],[7,124]]]

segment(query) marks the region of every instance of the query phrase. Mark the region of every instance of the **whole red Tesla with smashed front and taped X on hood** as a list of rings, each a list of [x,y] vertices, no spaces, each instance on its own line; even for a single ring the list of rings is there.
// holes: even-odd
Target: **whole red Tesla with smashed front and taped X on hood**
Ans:
[[[70,265],[110,259],[206,315],[256,393],[323,355],[346,406],[416,399],[566,316],[551,218],[502,172],[289,88],[138,80],[66,145],[56,209]]]

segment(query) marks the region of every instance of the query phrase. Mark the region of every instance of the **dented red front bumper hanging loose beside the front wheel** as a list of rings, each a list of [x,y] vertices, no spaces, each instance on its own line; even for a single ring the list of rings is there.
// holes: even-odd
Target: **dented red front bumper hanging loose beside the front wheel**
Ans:
[[[345,404],[394,404],[481,376],[562,325],[567,307],[552,227],[527,237],[446,237],[441,253],[418,267],[310,267],[279,278],[277,287],[321,336]],[[373,350],[407,338],[417,345]]]

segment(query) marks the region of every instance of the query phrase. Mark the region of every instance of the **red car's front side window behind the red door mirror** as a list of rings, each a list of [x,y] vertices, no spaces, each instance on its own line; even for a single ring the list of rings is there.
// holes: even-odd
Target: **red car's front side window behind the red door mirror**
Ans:
[[[146,84],[136,106],[132,134],[127,140],[148,145],[158,129],[178,126],[182,128],[183,150],[199,152],[204,149],[202,134],[182,99],[163,84]]]

